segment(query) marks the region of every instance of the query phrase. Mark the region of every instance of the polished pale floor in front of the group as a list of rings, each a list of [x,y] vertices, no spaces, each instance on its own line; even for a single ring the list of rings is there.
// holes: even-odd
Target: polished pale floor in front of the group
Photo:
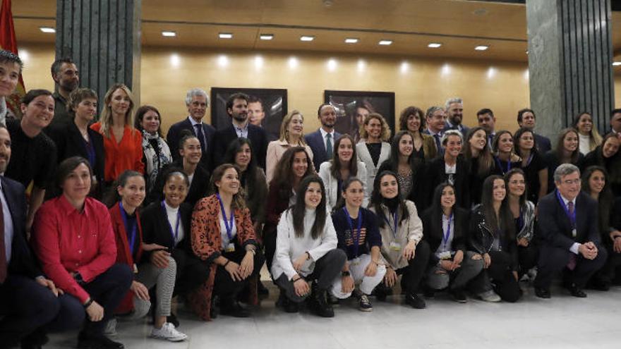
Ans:
[[[523,286],[526,286],[525,284]],[[148,338],[150,326],[121,322],[116,340],[128,349],[157,348],[620,348],[621,287],[608,292],[588,290],[577,299],[553,289],[550,300],[541,300],[526,288],[515,304],[466,304],[437,295],[427,309],[414,310],[403,296],[373,302],[373,312],[360,312],[353,300],[335,306],[336,316],[322,319],[302,310],[287,314],[274,305],[276,292],[256,307],[253,317],[220,316],[200,322],[190,312],[177,310],[179,330],[190,339],[181,343]],[[45,348],[75,348],[77,333],[51,336]]]

